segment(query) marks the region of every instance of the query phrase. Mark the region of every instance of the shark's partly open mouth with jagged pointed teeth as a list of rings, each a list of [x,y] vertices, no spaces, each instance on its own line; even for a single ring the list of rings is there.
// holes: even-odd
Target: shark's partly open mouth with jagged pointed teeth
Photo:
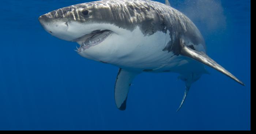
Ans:
[[[84,50],[89,49],[90,47],[96,46],[99,43],[102,43],[105,39],[107,39],[113,32],[110,30],[96,30],[91,32],[90,34],[84,35],[80,37],[79,39],[76,39],[75,42],[77,42],[80,45],[80,48],[77,48],[77,52],[81,52]]]

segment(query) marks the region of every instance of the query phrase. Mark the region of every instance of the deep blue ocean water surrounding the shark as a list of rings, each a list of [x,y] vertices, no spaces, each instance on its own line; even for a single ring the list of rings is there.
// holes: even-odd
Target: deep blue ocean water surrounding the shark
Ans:
[[[246,84],[207,67],[178,113],[178,74],[140,74],[120,111],[118,68],[82,58],[38,22],[89,1],[0,1],[0,130],[251,130],[250,0],[170,0],[200,29],[208,55]]]

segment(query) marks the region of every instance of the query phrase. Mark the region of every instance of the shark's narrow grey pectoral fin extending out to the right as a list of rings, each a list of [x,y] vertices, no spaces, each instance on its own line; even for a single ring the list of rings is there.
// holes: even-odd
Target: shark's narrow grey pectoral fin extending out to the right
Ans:
[[[187,46],[185,46],[184,44],[181,43],[180,55],[183,55],[183,56],[186,56],[188,58],[197,60],[200,63],[203,63],[203,64],[205,64],[209,67],[212,67],[215,70],[217,70],[219,72],[222,72],[223,74],[229,76],[231,79],[233,79],[236,82],[245,86],[245,84],[243,82],[241,82],[234,75],[232,75],[229,71],[227,71],[225,68],[223,68],[217,62],[215,62],[213,59],[211,59],[204,52],[198,52],[198,51],[192,50],[191,48],[189,48],[189,47],[187,47]]]

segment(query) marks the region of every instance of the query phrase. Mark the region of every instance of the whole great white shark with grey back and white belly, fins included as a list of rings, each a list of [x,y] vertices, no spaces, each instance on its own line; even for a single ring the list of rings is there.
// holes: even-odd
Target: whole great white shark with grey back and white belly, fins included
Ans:
[[[39,17],[51,35],[80,47],[84,58],[119,67],[114,97],[120,110],[135,76],[174,72],[185,82],[183,105],[191,84],[208,72],[205,65],[245,86],[206,54],[196,25],[183,13],[151,0],[101,0],[71,5]],[[177,110],[177,111],[178,111]]]

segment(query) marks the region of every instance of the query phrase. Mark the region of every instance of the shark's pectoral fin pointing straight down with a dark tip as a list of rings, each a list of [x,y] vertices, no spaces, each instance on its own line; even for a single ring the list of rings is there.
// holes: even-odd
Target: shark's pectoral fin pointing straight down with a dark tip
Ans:
[[[133,79],[139,72],[132,72],[119,68],[115,84],[115,101],[119,110],[126,109],[127,95]]]

